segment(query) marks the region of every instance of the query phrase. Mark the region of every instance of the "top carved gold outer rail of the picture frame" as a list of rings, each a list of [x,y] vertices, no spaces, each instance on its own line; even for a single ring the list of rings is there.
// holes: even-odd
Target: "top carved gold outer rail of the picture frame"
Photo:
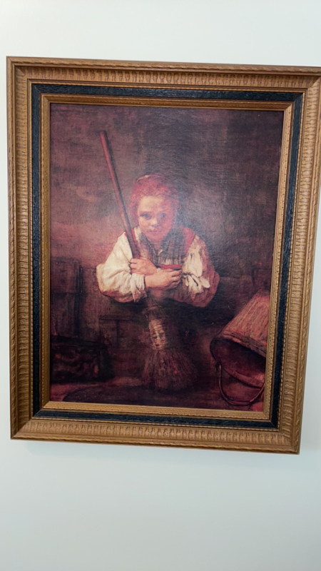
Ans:
[[[176,64],[162,62],[13,58],[31,81],[71,84],[173,86],[201,89],[265,89],[301,91],[315,83],[321,68]],[[22,71],[23,70],[23,71]]]

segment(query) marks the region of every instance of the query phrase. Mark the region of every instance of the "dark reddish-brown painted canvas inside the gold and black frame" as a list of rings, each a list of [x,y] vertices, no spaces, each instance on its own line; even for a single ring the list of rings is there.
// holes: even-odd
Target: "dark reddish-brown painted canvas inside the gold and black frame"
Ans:
[[[51,401],[263,410],[283,119],[51,103]]]

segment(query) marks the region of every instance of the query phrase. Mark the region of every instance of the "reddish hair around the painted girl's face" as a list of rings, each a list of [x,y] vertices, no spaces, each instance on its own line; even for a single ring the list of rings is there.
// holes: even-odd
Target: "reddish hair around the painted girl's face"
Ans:
[[[178,211],[178,192],[170,181],[170,178],[163,174],[146,174],[137,179],[131,191],[131,202],[129,211],[134,223],[137,223],[138,204],[143,196],[163,196],[170,198],[173,203],[175,213]]]

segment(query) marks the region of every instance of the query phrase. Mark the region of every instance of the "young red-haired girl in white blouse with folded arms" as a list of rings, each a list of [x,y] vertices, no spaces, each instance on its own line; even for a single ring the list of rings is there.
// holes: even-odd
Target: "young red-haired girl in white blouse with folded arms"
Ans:
[[[160,310],[168,299],[198,307],[208,305],[219,276],[205,243],[189,228],[175,224],[178,193],[173,183],[160,174],[138,178],[130,211],[136,224],[133,238],[141,257],[133,258],[123,233],[106,262],[97,266],[101,292],[122,303],[148,298],[151,305],[153,299]],[[173,323],[167,326],[168,331],[173,327]],[[167,378],[158,388],[184,388],[190,384],[191,375],[174,375],[172,381]],[[157,388],[157,383],[154,385]]]

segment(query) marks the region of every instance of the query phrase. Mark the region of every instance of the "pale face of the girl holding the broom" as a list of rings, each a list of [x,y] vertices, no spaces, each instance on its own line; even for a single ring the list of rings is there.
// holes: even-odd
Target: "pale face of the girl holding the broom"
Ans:
[[[143,196],[137,215],[139,228],[153,246],[159,248],[175,223],[172,201],[163,196]]]

